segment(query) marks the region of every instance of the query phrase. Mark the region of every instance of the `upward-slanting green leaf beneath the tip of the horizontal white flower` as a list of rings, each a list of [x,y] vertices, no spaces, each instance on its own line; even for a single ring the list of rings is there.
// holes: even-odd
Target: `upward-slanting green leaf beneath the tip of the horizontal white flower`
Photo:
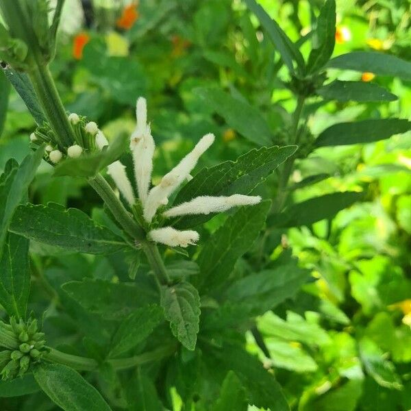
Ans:
[[[204,290],[223,284],[234,269],[234,264],[256,240],[266,220],[271,201],[256,206],[241,207],[213,234],[200,251],[197,263],[201,277],[199,283]]]

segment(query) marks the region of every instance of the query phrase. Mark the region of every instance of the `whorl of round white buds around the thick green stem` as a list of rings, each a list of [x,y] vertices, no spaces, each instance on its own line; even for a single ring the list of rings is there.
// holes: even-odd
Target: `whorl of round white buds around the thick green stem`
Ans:
[[[46,144],[45,160],[50,164],[58,164],[64,158],[78,158],[83,153],[102,150],[108,146],[107,138],[94,121],[87,121],[86,117],[75,113],[69,114],[69,121],[73,127],[75,141],[69,147],[61,147],[51,127],[43,123],[36,131],[30,134],[30,142],[34,146]]]

